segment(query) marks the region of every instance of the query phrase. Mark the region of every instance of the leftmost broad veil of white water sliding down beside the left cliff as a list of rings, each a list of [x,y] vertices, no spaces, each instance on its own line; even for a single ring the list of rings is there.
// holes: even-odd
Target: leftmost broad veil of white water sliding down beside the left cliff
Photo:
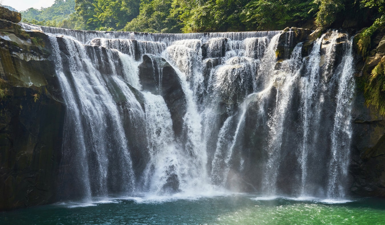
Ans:
[[[59,45],[55,38],[50,36],[54,53],[57,54]],[[135,188],[135,176],[127,138],[115,100],[105,85],[104,77],[95,69],[89,57],[89,54],[93,54],[94,58],[97,58],[96,53],[92,51],[94,49],[87,52],[81,43],[67,37],[63,37],[62,42],[65,44],[65,50],[69,52],[70,68],[66,71],[67,74],[64,74],[64,67],[60,65],[60,55],[54,57],[57,59],[56,69],[67,103],[66,114],[76,118],[75,122],[70,123],[73,127],[67,124],[67,129],[74,129],[77,135],[70,137],[75,140],[75,143],[70,145],[80,150],[74,160],[79,160],[82,164],[77,173],[81,174],[84,186],[87,187],[85,197],[105,196],[112,188],[117,188],[120,192],[132,191]],[[115,74],[112,53],[105,56],[108,57],[107,62]],[[67,118],[68,120],[70,118]],[[116,166],[122,169],[115,170]],[[117,182],[118,179],[122,181]],[[120,187],[107,187],[111,181],[117,182]]]

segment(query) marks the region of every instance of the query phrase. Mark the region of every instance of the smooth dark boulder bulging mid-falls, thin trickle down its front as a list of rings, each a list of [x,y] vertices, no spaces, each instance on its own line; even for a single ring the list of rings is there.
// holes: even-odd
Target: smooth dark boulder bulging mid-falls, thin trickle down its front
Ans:
[[[139,78],[144,91],[161,95],[171,113],[172,128],[182,135],[183,117],[186,114],[186,97],[176,71],[164,58],[143,55],[139,65]]]

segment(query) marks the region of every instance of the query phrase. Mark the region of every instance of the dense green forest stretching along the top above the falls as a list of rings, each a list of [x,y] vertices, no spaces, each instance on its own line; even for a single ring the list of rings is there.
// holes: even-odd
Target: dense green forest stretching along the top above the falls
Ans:
[[[226,32],[298,27],[370,27],[385,0],[55,0],[22,11],[23,22],[79,30]]]

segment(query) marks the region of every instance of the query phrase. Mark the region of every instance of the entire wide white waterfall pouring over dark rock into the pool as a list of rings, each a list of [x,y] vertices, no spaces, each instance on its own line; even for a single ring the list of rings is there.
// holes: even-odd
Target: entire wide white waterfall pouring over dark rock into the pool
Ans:
[[[347,195],[355,90],[348,34],[331,30],[310,45],[293,30],[20,25],[49,34],[66,105],[62,198]]]

